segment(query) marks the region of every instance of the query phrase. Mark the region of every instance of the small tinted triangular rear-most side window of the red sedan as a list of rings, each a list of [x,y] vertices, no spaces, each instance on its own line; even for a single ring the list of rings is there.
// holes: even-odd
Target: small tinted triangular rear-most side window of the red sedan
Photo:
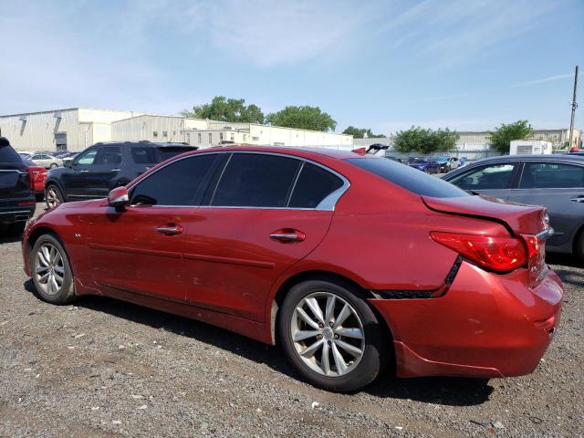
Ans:
[[[316,208],[330,193],[342,187],[343,181],[334,173],[305,162],[290,197],[291,208]]]

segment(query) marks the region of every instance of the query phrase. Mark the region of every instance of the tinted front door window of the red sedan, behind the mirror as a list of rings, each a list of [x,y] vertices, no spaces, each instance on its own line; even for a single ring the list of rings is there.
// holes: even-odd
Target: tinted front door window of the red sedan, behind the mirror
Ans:
[[[172,162],[147,176],[130,190],[130,204],[193,205],[216,154],[203,154]]]

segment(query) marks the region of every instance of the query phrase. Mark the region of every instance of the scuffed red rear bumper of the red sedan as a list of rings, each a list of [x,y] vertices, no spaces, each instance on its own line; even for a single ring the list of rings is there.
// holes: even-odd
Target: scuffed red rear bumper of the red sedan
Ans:
[[[445,296],[371,299],[393,334],[400,377],[519,376],[537,368],[558,328],[563,285],[527,270],[495,275],[463,263]]]

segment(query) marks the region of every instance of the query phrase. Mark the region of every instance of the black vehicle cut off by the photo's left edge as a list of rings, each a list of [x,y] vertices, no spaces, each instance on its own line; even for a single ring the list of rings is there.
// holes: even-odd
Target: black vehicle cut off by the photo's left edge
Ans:
[[[0,234],[18,235],[35,214],[31,172],[5,137],[0,137]]]

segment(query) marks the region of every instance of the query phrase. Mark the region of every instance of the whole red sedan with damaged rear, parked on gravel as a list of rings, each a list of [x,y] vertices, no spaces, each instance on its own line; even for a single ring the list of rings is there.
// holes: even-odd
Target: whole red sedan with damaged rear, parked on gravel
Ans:
[[[529,373],[558,327],[546,211],[351,152],[228,147],[33,219],[40,297],[104,295],[279,344],[304,379]]]

